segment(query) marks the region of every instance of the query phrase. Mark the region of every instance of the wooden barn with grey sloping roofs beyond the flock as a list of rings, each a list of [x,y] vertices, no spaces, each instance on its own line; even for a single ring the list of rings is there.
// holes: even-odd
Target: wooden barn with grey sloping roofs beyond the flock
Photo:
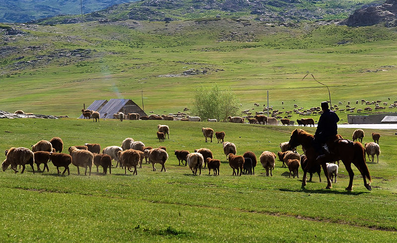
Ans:
[[[124,114],[138,113],[140,117],[147,116],[146,113],[138,105],[130,99],[110,99],[107,100],[96,100],[88,108],[99,112],[101,119],[113,119],[113,114],[122,112]],[[79,117],[83,119],[83,115]]]

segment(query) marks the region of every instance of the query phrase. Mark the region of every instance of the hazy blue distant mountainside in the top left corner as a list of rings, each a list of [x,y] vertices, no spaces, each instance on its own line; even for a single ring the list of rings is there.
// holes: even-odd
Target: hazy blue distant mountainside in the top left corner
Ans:
[[[83,0],[83,13],[136,0]],[[28,22],[61,14],[79,14],[80,0],[0,0],[0,22]]]

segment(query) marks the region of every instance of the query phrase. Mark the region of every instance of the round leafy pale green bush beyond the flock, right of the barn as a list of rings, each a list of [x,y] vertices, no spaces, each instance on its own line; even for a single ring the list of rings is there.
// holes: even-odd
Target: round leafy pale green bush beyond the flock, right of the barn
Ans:
[[[228,116],[239,114],[240,101],[231,89],[221,89],[217,84],[196,88],[192,99],[191,114],[201,119],[225,121]]]

